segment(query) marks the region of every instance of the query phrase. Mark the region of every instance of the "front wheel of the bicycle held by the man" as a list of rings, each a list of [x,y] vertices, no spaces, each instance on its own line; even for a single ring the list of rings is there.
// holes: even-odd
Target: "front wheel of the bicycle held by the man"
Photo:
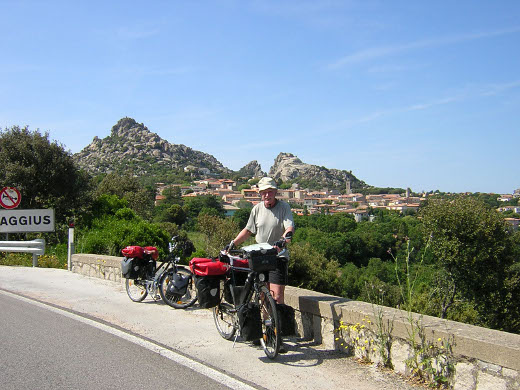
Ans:
[[[260,344],[269,359],[278,355],[280,348],[280,320],[276,310],[276,302],[266,286],[261,286],[260,291],[255,294],[255,300],[260,306],[262,317],[262,338]]]

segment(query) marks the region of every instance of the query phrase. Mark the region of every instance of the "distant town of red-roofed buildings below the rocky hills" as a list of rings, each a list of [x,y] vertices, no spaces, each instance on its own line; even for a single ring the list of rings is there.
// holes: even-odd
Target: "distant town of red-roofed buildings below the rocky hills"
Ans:
[[[203,179],[194,181],[191,186],[158,183],[156,204],[159,204],[165,198],[162,192],[167,187],[179,187],[183,197],[216,196],[222,199],[224,210],[228,216],[233,215],[239,209],[237,206],[239,202],[246,201],[254,206],[261,201],[256,185],[239,191],[237,182],[233,180]],[[355,220],[360,222],[373,218],[370,212],[376,209],[393,210],[404,214],[416,212],[421,202],[427,199],[427,196],[428,194],[412,196],[409,190],[404,194],[363,195],[353,193],[350,188],[350,182],[347,181],[344,194],[338,190],[329,190],[327,188],[323,188],[320,191],[311,191],[299,188],[298,184],[293,184],[289,189],[278,189],[277,198],[290,203],[293,212],[298,215],[347,213],[353,215]],[[520,189],[515,190],[512,194],[500,194],[497,200],[509,202],[514,198],[520,198]],[[503,206],[499,207],[498,211],[512,211],[520,214],[520,206]],[[518,229],[520,225],[520,218],[506,218],[506,221],[515,229]]]

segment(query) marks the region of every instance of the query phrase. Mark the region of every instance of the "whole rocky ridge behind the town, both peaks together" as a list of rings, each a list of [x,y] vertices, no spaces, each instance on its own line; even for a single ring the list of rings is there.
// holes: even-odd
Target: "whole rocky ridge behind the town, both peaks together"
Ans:
[[[93,175],[130,173],[149,178],[151,183],[154,180],[165,180],[166,177],[172,177],[172,174],[189,177],[266,175],[256,160],[238,172],[233,172],[212,155],[185,145],[171,144],[132,118],[120,119],[112,127],[108,137],[95,137],[90,145],[73,158],[81,168]],[[352,172],[305,164],[290,153],[280,153],[276,157],[269,175],[283,182],[299,183],[308,188],[344,189],[347,180],[350,180],[352,188],[367,187]]]

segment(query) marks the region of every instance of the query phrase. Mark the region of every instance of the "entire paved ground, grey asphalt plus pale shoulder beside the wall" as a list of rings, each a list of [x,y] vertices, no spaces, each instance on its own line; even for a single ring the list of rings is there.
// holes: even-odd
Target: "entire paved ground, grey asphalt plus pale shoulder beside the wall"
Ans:
[[[2,389],[417,389],[312,342],[286,344],[272,361],[222,339],[210,310],[134,303],[121,283],[64,270],[0,266]]]

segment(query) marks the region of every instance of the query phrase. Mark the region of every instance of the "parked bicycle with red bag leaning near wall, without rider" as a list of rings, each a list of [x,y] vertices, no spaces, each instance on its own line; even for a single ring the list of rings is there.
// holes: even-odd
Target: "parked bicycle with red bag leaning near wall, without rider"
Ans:
[[[180,258],[174,255],[175,237],[165,260],[157,261],[155,247],[127,247],[121,262],[122,276],[126,278],[126,292],[134,302],[142,302],[148,294],[162,300],[175,309],[184,309],[197,301],[197,290],[189,269],[178,265]],[[141,249],[139,249],[141,248]]]

